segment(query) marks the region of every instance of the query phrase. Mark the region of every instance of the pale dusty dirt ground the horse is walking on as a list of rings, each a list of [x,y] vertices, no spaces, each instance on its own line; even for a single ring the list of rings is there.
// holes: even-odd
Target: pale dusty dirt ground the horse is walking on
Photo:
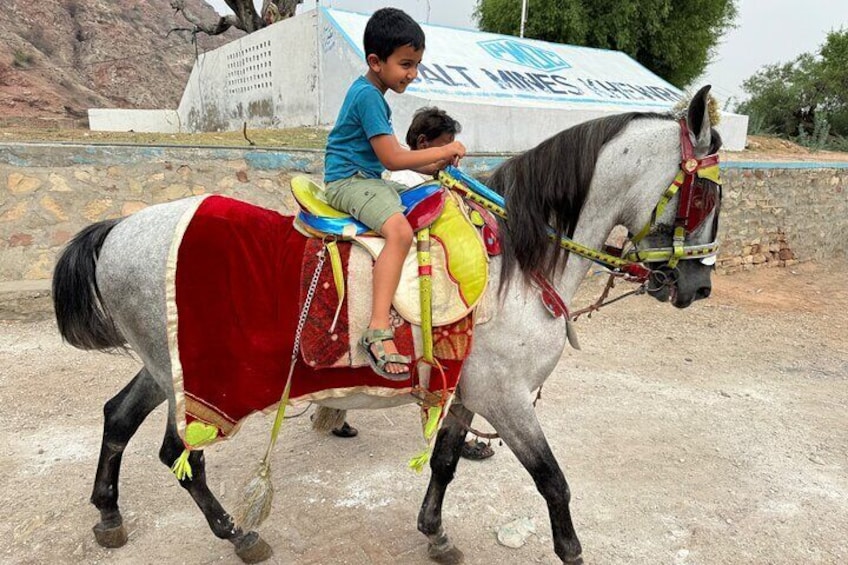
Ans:
[[[687,310],[648,297],[580,320],[539,418],[573,492],[589,564],[848,562],[848,264],[714,277]],[[600,281],[589,280],[580,303]],[[158,409],[121,475],[129,542],[98,547],[88,503],[102,405],[137,370],[63,346],[50,322],[0,322],[0,561],[236,563],[157,452]],[[272,563],[427,563],[416,516],[428,473],[414,407],[350,416],[355,439],[289,421],[274,456]],[[233,508],[272,417],[207,450],[210,485]],[[485,425],[485,424],[484,424]],[[555,563],[547,510],[505,446],[460,464],[445,527],[466,562]],[[523,547],[496,532],[529,518]]]

